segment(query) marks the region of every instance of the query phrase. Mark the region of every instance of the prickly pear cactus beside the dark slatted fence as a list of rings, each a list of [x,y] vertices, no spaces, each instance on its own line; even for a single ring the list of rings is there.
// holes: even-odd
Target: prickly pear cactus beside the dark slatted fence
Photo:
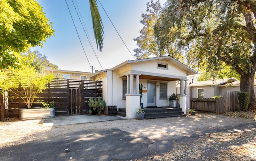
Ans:
[[[106,102],[102,100],[100,97],[96,98],[89,98],[89,104],[90,107],[89,114],[92,115],[100,115],[104,114],[104,108],[106,106]]]

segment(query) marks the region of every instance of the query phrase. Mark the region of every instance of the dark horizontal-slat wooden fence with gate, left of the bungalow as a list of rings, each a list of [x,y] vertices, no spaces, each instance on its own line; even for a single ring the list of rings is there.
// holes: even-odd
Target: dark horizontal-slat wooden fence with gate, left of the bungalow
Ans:
[[[101,81],[55,79],[47,86],[49,87],[48,89],[37,95],[32,107],[42,107],[42,104],[36,100],[44,100],[44,102],[54,100],[55,116],[88,114],[89,98],[98,96],[102,98]],[[8,108],[5,109],[5,117],[18,117],[19,108],[26,107],[22,98],[17,97],[12,92],[9,92],[8,102]]]

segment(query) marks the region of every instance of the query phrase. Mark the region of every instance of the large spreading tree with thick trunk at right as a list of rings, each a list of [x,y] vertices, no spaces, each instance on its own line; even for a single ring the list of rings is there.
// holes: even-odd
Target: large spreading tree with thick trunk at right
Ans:
[[[255,18],[254,0],[168,0],[155,33],[160,47],[183,50],[194,67],[218,71],[224,63],[235,70],[256,109]]]

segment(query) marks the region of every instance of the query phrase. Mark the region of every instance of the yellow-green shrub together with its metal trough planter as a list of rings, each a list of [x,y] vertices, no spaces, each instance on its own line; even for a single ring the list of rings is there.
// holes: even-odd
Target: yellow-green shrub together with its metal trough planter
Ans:
[[[35,98],[38,93],[42,93],[44,89],[47,89],[47,83],[50,83],[54,79],[54,75],[39,75],[34,67],[24,67],[20,70],[13,70],[9,80],[12,88],[10,92],[20,97],[26,104],[26,108],[20,108],[20,120],[30,120],[38,118],[52,118],[55,114],[46,111],[46,108],[33,107]],[[50,114],[50,116],[48,116]]]

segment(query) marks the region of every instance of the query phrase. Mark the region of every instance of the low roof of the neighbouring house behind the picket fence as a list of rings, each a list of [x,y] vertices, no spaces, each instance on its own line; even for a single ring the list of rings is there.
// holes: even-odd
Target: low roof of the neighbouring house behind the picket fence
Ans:
[[[193,82],[188,86],[210,86],[210,85],[218,85],[221,86],[226,84],[229,79],[217,79],[217,80],[210,80],[210,81],[200,81],[200,82]],[[231,78],[231,82],[238,81],[236,78]]]

